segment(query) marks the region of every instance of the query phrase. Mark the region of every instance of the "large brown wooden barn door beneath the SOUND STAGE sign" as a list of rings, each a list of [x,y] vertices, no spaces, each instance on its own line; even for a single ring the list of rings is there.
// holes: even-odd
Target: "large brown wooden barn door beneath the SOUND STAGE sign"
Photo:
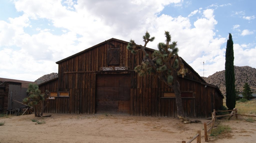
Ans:
[[[130,74],[97,75],[96,113],[130,114]]]

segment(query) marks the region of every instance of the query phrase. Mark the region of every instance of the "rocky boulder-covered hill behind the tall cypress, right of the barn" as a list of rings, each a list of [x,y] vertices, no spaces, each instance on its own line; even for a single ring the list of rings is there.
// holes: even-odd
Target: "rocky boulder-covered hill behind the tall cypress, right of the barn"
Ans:
[[[244,83],[248,83],[253,92],[256,92],[256,69],[249,66],[234,66],[235,72],[235,88],[242,92]],[[203,77],[204,80],[220,88],[222,94],[226,94],[225,70],[216,72],[215,74]]]

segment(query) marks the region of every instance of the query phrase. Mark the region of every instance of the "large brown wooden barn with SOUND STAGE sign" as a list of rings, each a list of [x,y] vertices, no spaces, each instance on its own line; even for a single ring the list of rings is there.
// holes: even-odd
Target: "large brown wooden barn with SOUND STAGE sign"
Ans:
[[[42,92],[51,92],[45,112],[175,117],[174,92],[157,76],[134,72],[143,57],[128,51],[127,44],[112,38],[56,62],[58,78],[39,84]],[[221,108],[223,95],[183,62],[188,69],[179,77],[185,116],[210,117]]]

